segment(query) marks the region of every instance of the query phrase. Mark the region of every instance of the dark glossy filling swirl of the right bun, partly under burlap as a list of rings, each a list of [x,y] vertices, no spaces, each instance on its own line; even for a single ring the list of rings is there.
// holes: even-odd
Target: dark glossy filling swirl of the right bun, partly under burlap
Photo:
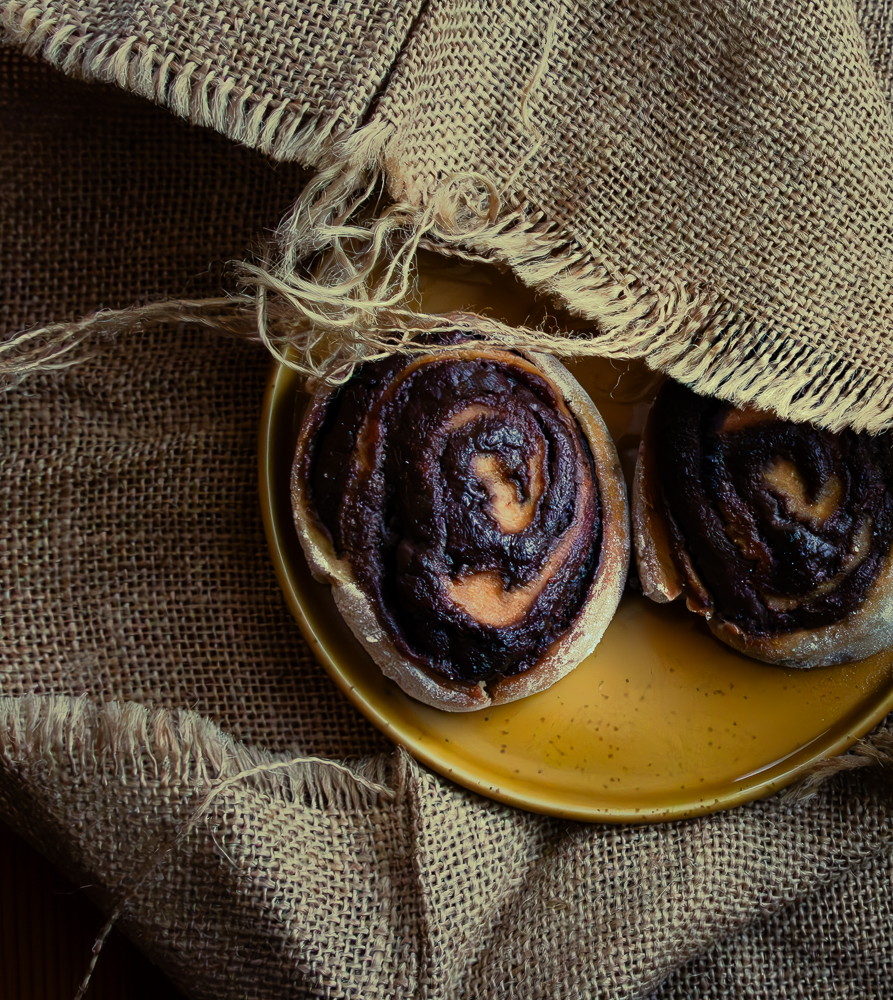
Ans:
[[[649,445],[690,604],[750,634],[841,621],[893,541],[889,438],[832,434],[667,383]]]

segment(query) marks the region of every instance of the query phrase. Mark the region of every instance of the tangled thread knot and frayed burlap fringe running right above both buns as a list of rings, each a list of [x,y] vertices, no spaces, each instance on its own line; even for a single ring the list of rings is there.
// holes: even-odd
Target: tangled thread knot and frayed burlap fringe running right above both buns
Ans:
[[[514,205],[486,177],[457,175],[423,205],[375,200],[393,186],[390,131],[380,122],[338,144],[277,233],[272,266],[245,266],[258,291],[259,332],[280,361],[340,382],[353,366],[395,351],[429,350],[419,335],[475,329],[499,346],[559,357],[644,358],[699,392],[758,403],[786,419],[831,430],[878,433],[893,426],[893,383],[827,348],[750,320],[681,282],[648,286],[616,275],[561,234],[543,213]],[[371,209],[370,209],[370,206]],[[490,317],[431,316],[412,308],[415,252],[507,266],[537,294],[594,328],[510,327]],[[312,257],[312,273],[300,262]],[[266,302],[296,317],[282,339],[265,322]],[[830,356],[829,356],[830,355]]]

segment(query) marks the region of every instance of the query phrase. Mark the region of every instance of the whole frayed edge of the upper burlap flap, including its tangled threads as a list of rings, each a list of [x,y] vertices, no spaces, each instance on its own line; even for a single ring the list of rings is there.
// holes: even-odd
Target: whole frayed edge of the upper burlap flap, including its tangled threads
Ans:
[[[530,155],[498,184],[477,174],[446,181],[425,204],[389,203],[401,189],[401,164],[389,157],[394,127],[377,114],[351,134],[338,133],[337,115],[307,121],[289,102],[252,98],[205,67],[179,64],[157,49],[140,51],[135,37],[89,31],[61,15],[10,0],[0,26],[26,52],[63,72],[115,83],[216,129],[267,155],[300,160],[319,174],[280,226],[268,261],[246,264],[241,276],[256,299],[257,334],[283,363],[314,379],[343,382],[356,364],[397,351],[428,350],[423,334],[475,329],[494,345],[542,350],[559,357],[644,358],[654,369],[701,393],[775,410],[781,417],[831,430],[849,426],[880,433],[893,426],[893,382],[881,370],[829,350],[792,331],[770,328],[733,305],[711,301],[682,281],[662,287],[597,264],[570,235],[529,205],[506,196]],[[518,119],[533,146],[541,136],[527,102],[545,71],[543,57],[523,89]],[[420,248],[510,268],[526,285],[561,303],[595,329],[510,327],[475,314],[426,315],[412,306],[415,253]],[[165,305],[154,309],[152,322]],[[284,308],[283,308],[284,307]],[[213,325],[213,310],[198,309]],[[222,304],[219,325],[244,324],[241,296]],[[275,321],[274,321],[275,320]],[[150,317],[140,310],[103,314],[67,329],[28,331],[0,358],[0,377],[58,367],[59,345],[80,354],[94,327],[126,330]],[[188,321],[185,316],[181,321]],[[71,329],[80,326],[80,336]],[[251,336],[255,334],[252,332]]]

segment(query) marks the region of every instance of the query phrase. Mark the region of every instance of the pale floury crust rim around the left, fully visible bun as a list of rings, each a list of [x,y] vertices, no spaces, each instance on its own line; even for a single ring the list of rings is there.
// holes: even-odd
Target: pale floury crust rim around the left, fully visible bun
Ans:
[[[474,356],[511,363],[516,355],[505,351],[474,349]],[[463,357],[469,355],[463,351]],[[487,685],[451,681],[432,670],[408,662],[382,629],[369,598],[354,581],[350,564],[339,559],[331,537],[310,503],[310,491],[299,474],[310,447],[305,434],[311,421],[305,417],[292,468],[292,508],[295,526],[315,579],[332,587],[335,605],[354,635],[382,673],[408,695],[452,712],[469,712],[489,705],[517,701],[551,687],[585,659],[608,627],[626,582],[629,565],[629,508],[626,484],[614,443],[592,400],[560,362],[548,355],[524,353],[561,391],[589,442],[598,480],[602,511],[602,545],[599,561],[585,603],[565,634],[529,670]],[[331,391],[321,391],[310,401],[316,412],[325,407]],[[308,416],[310,413],[308,412]]]

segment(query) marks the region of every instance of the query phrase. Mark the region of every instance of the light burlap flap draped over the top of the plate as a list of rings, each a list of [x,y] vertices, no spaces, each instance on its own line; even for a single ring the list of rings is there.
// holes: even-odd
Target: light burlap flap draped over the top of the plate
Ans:
[[[305,249],[380,181],[409,228],[588,319],[590,350],[795,419],[891,424],[880,0],[2,12],[9,38],[69,73],[333,171],[341,198],[292,234]]]

